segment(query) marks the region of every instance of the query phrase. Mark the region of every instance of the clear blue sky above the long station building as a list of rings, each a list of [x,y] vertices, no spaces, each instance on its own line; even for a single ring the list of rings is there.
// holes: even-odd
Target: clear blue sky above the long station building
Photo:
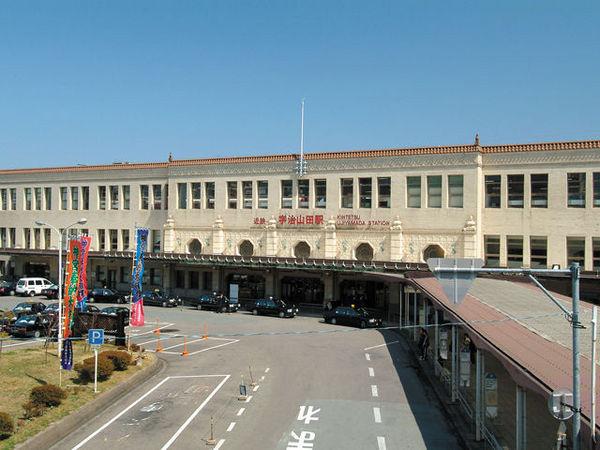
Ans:
[[[598,2],[7,1],[0,166],[600,137]]]

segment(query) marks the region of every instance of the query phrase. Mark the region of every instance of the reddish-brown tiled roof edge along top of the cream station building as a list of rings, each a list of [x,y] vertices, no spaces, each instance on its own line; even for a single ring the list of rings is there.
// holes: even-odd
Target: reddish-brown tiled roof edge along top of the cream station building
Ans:
[[[512,152],[539,152],[539,151],[563,151],[600,149],[600,140],[569,141],[569,142],[541,142],[533,144],[506,144],[506,145],[453,145],[441,147],[417,147],[417,148],[386,148],[378,150],[350,150],[307,153],[307,160],[336,159],[336,158],[377,158],[389,156],[414,156],[414,155],[443,155],[456,153],[512,153]],[[5,169],[0,170],[0,175],[16,175],[26,173],[61,173],[61,172],[88,172],[98,170],[140,170],[161,169],[192,165],[213,164],[252,164],[264,162],[295,161],[297,154],[280,154],[265,156],[235,156],[224,158],[203,159],[180,159],[167,162],[154,163],[116,163],[92,166],[65,166],[65,167],[42,167],[32,169]]]

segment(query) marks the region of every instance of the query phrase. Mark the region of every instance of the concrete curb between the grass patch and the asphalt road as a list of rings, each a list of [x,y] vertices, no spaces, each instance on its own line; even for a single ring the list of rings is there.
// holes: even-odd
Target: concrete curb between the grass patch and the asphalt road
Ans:
[[[40,431],[25,442],[17,444],[15,449],[46,450],[52,447],[69,433],[79,428],[82,424],[102,413],[123,394],[129,392],[135,385],[144,383],[156,375],[165,366],[166,363],[163,360],[155,357],[151,366],[136,373],[128,380],[119,383],[111,390],[103,392],[94,400],[83,405],[79,409],[71,411],[68,416],[63,417],[58,422],[50,424],[45,430]]]

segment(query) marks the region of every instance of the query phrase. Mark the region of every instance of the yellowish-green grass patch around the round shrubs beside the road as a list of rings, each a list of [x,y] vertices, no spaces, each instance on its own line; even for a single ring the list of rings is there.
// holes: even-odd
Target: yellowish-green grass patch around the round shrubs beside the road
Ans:
[[[113,345],[103,345],[101,350],[114,350]],[[149,364],[152,355],[144,354],[143,365],[130,366],[123,372],[113,372],[110,379],[98,382],[98,394],[94,394],[94,384],[81,384],[77,372],[62,371],[62,387],[68,396],[56,408],[49,408],[43,416],[35,419],[23,419],[23,403],[29,400],[29,392],[35,386],[42,384],[59,384],[59,360],[56,354],[56,344],[48,351],[35,347],[13,351],[3,351],[0,354],[0,411],[7,412],[15,420],[15,434],[0,441],[0,449],[12,449],[36,435],[51,423],[70,414],[83,406],[95,396],[123,382],[144,366]],[[93,356],[94,352],[83,342],[73,344],[74,363]]]

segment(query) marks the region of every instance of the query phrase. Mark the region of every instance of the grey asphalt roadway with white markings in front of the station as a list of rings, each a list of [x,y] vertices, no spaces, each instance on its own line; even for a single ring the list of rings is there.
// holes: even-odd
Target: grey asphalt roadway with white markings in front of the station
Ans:
[[[0,298],[1,308],[21,300]],[[201,448],[211,417],[218,449],[460,448],[393,331],[245,311],[145,311],[132,341],[162,349],[165,370],[55,449]]]

